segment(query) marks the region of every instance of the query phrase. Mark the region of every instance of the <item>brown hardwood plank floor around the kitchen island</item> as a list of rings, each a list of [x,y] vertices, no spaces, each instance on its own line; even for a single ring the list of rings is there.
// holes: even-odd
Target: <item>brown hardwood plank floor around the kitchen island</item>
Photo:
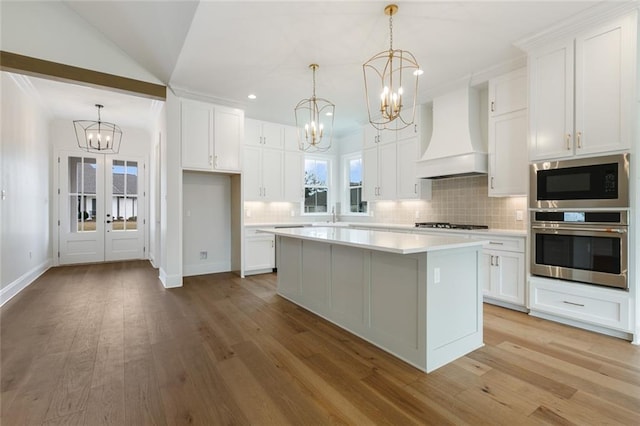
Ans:
[[[144,261],[49,270],[1,312],[2,425],[640,424],[640,348],[485,305],[424,374],[275,294],[166,290]]]

